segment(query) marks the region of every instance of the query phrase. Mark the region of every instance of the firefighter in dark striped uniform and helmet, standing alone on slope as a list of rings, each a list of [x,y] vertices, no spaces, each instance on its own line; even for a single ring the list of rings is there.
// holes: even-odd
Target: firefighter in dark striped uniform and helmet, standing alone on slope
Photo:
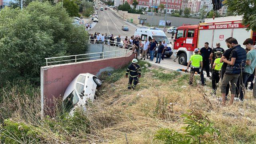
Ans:
[[[126,70],[126,78],[128,78],[128,73],[130,72],[130,76],[129,76],[129,82],[128,82],[128,89],[130,90],[135,89],[136,85],[139,82],[139,78],[140,78],[140,66],[138,64],[136,64],[138,62],[138,60],[136,58],[134,58],[132,60],[132,63],[128,66],[127,70]],[[133,86],[132,86],[132,80],[133,80]]]

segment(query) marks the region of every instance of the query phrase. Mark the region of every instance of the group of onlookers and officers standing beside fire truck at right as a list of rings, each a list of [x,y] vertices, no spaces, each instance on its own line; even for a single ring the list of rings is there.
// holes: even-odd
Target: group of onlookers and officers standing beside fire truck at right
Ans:
[[[202,85],[204,82],[204,73],[212,80],[213,96],[216,96],[217,84],[220,80],[220,91],[222,93],[222,105],[226,105],[226,99],[231,92],[230,105],[234,100],[244,101],[245,89],[248,82],[251,82],[250,90],[253,88],[253,80],[255,80],[256,67],[256,50],[252,39],[246,39],[243,45],[246,49],[238,44],[238,41],[232,37],[226,39],[228,49],[224,51],[220,47],[220,43],[216,43],[216,48],[211,49],[209,43],[204,43],[204,47],[194,50],[194,55],[191,56],[187,69],[190,70],[190,85],[193,84],[193,76],[197,72],[200,74]],[[210,76],[210,64],[212,67],[212,76]]]

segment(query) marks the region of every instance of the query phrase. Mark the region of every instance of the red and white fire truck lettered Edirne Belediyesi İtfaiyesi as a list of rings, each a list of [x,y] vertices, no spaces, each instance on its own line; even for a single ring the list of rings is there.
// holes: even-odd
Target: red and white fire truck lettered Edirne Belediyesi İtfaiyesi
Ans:
[[[246,31],[246,26],[241,24],[241,20],[242,16],[210,18],[199,25],[178,27],[174,39],[174,56],[178,58],[179,64],[186,66],[195,48],[201,49],[205,42],[213,48],[219,42],[223,49],[227,49],[225,40],[228,37],[237,39],[241,46],[245,39],[252,38],[255,45],[256,32]]]

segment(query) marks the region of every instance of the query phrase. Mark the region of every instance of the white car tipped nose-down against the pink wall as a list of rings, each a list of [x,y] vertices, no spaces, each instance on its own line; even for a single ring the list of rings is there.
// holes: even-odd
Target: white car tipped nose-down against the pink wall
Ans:
[[[102,82],[93,74],[79,74],[68,85],[64,93],[62,105],[64,111],[74,115],[77,107],[82,107],[86,110],[86,103],[94,100],[94,95],[97,86],[100,87]]]

